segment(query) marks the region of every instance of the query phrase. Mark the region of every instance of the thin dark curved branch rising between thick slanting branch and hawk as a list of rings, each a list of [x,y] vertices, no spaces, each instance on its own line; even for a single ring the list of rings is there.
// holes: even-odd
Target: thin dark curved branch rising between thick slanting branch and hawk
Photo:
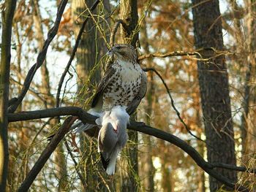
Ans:
[[[99,2],[100,2],[100,0],[96,0],[94,2],[94,4],[91,6],[90,10],[93,11],[97,7]],[[57,95],[56,95],[56,107],[59,107],[59,102],[60,102],[59,96],[60,96],[60,93],[61,93],[61,87],[62,87],[62,84],[64,82],[64,78],[66,77],[66,74],[69,71],[69,67],[72,64],[73,59],[75,58],[75,53],[78,50],[78,45],[80,43],[80,39],[82,37],[84,28],[86,27],[86,23],[87,23],[88,20],[89,20],[89,15],[86,16],[86,20],[83,21],[83,25],[80,28],[80,31],[78,33],[78,37],[77,37],[77,39],[75,41],[75,45],[73,47],[72,54],[71,54],[71,56],[69,58],[69,61],[67,62],[67,66],[66,66],[63,74],[61,75],[61,79],[59,80],[58,91],[57,91]]]

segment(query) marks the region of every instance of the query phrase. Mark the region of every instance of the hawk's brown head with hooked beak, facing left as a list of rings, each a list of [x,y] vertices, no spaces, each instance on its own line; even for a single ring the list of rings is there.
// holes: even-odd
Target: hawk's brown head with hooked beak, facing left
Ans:
[[[116,55],[117,59],[123,61],[135,61],[137,60],[137,52],[135,47],[129,44],[117,44],[113,46],[109,51],[109,55]]]

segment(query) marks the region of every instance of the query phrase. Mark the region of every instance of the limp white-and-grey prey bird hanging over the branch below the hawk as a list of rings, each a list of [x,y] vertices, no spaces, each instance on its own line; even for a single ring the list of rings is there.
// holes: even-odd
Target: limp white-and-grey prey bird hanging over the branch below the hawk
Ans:
[[[107,174],[114,174],[118,153],[127,143],[129,115],[126,107],[120,105],[104,112],[96,123],[101,126],[98,136],[98,152]]]

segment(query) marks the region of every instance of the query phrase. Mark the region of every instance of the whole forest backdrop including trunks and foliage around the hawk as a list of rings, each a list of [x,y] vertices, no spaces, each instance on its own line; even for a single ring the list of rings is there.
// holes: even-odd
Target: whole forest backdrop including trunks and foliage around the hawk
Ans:
[[[255,190],[254,0],[10,0],[0,6],[1,189],[22,191],[30,181],[31,191]],[[102,168],[96,139],[68,134],[31,179],[48,137],[75,115],[50,115],[50,109],[88,109],[109,61],[105,53],[118,42],[138,47],[148,75],[136,120],[184,140],[230,180],[198,163],[187,145],[173,143],[170,135],[150,136],[156,136],[150,129],[129,131],[113,177]],[[26,112],[34,110],[46,110],[48,118],[32,120],[33,112]],[[13,112],[16,120],[7,115]]]

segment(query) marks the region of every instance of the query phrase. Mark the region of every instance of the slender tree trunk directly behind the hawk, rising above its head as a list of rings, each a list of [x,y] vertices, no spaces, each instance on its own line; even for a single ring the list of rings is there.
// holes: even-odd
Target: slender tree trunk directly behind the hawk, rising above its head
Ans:
[[[121,0],[120,17],[127,25],[128,31],[121,28],[121,43],[129,43],[136,47],[138,34],[132,34],[138,24],[138,6],[137,0]],[[138,191],[138,133],[128,131],[129,140],[132,145],[126,147],[127,157],[122,159],[124,164],[121,178],[121,191]]]

